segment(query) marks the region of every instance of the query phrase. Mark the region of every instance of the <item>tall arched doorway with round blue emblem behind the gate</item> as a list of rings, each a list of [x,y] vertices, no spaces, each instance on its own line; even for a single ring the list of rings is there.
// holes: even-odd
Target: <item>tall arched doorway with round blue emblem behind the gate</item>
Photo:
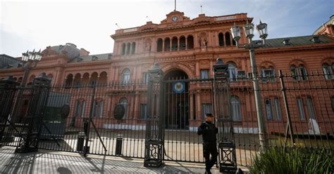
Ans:
[[[187,73],[181,69],[173,69],[164,76],[167,129],[189,128],[189,83]]]

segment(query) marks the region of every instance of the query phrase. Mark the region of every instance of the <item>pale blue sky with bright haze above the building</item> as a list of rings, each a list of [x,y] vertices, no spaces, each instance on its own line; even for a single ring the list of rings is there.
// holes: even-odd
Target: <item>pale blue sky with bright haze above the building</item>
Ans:
[[[248,13],[268,24],[268,38],[314,32],[334,14],[334,0],[177,0],[178,11],[196,18]],[[174,0],[0,0],[0,54],[14,57],[33,49],[73,43],[91,54],[112,53],[110,35],[122,28],[159,23]]]

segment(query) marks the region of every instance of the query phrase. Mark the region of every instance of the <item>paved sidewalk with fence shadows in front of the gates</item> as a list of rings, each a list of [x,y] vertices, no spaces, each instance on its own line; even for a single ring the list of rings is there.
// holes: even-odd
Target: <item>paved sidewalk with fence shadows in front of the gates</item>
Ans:
[[[0,148],[0,173],[204,173],[203,163],[166,162],[145,168],[142,159],[39,150],[16,154],[13,147]],[[217,168],[213,173],[219,173]]]

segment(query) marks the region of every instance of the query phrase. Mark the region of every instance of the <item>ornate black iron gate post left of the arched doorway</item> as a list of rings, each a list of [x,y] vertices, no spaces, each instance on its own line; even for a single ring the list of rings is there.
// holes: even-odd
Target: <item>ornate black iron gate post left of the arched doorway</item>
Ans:
[[[163,72],[155,64],[149,69],[147,89],[147,121],[145,133],[145,167],[159,167],[163,163],[164,134]]]

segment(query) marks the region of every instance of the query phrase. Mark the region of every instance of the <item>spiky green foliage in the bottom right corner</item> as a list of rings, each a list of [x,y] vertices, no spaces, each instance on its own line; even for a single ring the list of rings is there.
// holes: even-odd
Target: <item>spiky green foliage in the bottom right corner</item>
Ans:
[[[254,156],[250,173],[334,173],[333,149],[268,148]]]

